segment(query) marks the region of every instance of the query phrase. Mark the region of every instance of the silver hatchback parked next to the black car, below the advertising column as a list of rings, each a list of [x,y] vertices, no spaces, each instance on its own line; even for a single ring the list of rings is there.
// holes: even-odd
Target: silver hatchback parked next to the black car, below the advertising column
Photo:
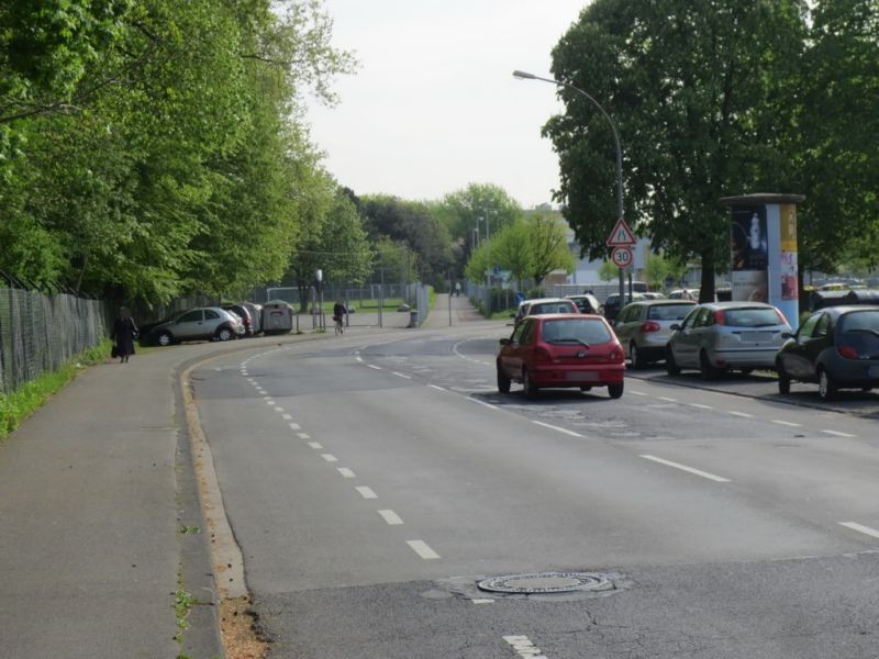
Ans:
[[[763,302],[704,302],[696,305],[666,347],[666,370],[698,369],[705,379],[727,370],[772,369],[791,331],[785,315]]]

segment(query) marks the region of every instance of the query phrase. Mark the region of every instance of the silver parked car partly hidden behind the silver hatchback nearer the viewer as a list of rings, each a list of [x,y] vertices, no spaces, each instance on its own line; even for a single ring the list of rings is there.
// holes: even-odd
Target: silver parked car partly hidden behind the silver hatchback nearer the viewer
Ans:
[[[623,306],[613,331],[632,368],[665,359],[671,325],[682,321],[693,306],[696,302],[690,300],[638,300]]]

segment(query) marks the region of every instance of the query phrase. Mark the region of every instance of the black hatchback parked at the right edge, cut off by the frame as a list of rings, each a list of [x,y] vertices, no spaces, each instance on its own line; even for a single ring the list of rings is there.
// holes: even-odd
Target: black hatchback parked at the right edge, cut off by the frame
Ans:
[[[831,400],[839,389],[879,387],[879,306],[828,306],[810,315],[776,356],[778,390],[817,382]]]

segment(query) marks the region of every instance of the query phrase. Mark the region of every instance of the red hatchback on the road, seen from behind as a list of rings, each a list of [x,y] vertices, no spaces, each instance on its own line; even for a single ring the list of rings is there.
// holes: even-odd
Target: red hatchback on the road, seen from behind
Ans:
[[[498,390],[510,392],[521,382],[534,399],[544,387],[607,387],[611,398],[623,395],[625,357],[608,322],[598,315],[526,316],[498,351]]]

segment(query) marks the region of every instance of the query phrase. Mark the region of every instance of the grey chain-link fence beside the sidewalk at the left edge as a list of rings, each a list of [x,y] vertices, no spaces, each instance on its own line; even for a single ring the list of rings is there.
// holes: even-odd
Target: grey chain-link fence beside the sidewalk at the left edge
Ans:
[[[108,319],[99,300],[0,288],[0,393],[97,346]]]

